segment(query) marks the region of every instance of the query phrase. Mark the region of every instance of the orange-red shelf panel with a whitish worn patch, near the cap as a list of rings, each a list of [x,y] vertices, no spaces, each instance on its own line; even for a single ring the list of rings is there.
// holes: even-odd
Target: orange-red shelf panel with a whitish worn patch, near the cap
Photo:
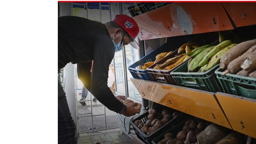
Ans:
[[[234,29],[221,3],[172,3],[134,17],[140,40]]]

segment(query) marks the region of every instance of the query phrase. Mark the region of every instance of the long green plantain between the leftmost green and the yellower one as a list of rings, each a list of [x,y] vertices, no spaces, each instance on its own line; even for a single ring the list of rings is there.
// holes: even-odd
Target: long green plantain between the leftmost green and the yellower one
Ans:
[[[232,42],[230,40],[226,40],[226,41],[219,43],[216,47],[211,49],[211,51],[209,51],[209,53],[207,53],[205,55],[203,60],[199,63],[199,67],[204,66],[205,64],[208,64],[209,60],[213,57],[214,54],[218,53],[219,51],[221,51],[222,49],[224,49],[225,47],[227,47],[231,44],[232,44]]]

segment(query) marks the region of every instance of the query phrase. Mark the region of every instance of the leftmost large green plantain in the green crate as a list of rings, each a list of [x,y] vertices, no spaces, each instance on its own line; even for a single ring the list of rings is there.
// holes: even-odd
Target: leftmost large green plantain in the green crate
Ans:
[[[201,60],[204,58],[205,54],[209,53],[215,46],[211,46],[208,47],[207,49],[205,49],[204,51],[202,51],[200,54],[198,54],[197,56],[195,56],[195,58],[193,58],[191,60],[191,62],[189,63],[188,66],[188,71],[189,72],[197,72],[199,70],[199,63],[201,62]]]

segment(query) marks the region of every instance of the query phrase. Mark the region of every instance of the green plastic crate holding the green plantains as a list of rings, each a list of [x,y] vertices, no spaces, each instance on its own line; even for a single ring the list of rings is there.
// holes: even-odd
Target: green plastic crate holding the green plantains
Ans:
[[[188,72],[187,63],[188,61],[184,62],[170,73],[178,86],[210,92],[223,92],[215,75],[215,70],[219,68],[219,64],[206,72]]]

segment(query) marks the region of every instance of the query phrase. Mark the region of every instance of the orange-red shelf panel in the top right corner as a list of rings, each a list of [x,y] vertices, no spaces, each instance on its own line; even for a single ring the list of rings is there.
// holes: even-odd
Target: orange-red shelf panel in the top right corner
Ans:
[[[223,2],[222,4],[236,27],[256,24],[256,3]]]

